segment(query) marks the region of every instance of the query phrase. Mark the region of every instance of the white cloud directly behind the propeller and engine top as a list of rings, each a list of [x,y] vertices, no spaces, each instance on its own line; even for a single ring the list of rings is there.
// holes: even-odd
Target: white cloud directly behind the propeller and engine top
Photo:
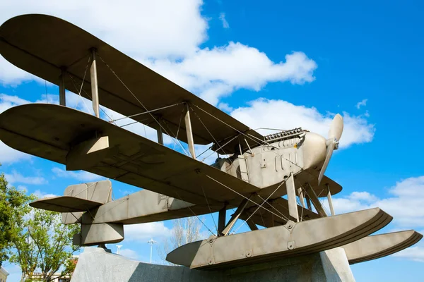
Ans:
[[[283,100],[257,99],[248,102],[249,106],[232,111],[231,116],[242,121],[250,128],[283,128],[302,127],[327,137],[333,118],[331,114],[321,114],[316,108],[297,106]],[[369,124],[363,116],[351,116],[343,113],[344,130],[340,147],[352,144],[371,142],[375,126]]]

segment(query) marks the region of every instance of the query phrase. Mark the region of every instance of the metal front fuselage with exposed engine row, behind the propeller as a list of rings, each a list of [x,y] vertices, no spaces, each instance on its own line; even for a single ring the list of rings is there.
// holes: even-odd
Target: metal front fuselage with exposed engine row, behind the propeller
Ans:
[[[266,191],[279,185],[290,173],[296,176],[299,185],[317,179],[325,157],[326,139],[297,129],[287,136],[268,135],[264,145],[218,158],[212,166]]]

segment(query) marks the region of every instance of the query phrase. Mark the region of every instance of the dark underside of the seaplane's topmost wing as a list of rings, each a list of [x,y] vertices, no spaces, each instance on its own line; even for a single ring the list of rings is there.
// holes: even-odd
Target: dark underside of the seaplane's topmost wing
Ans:
[[[146,109],[151,111],[189,102],[195,113],[192,117],[192,130],[196,144],[217,142],[214,148],[218,149],[240,133],[252,135],[249,136],[251,138],[246,138],[251,147],[264,140],[264,137],[249,129],[247,125],[65,20],[32,14],[11,18],[0,27],[0,53],[6,60],[56,85],[59,85],[61,68],[65,68],[66,73],[73,78],[66,75],[65,87],[72,92],[79,90],[92,48],[97,49],[101,60],[112,68],[136,96],[135,98],[126,89],[105,63],[98,60],[99,100],[100,104],[107,108],[124,116],[131,116],[140,114]],[[88,73],[81,93],[88,99],[91,99],[90,87]],[[155,118],[162,119],[165,130],[172,137],[175,137],[179,128],[182,106],[184,105],[179,104],[152,113]],[[136,116],[134,119],[152,128],[159,128],[158,123],[149,114]],[[184,122],[181,127],[184,128]],[[179,132],[177,139],[187,142],[187,135]],[[232,140],[220,153],[233,153],[235,145],[238,144],[239,140]],[[244,140],[242,146],[247,147]]]

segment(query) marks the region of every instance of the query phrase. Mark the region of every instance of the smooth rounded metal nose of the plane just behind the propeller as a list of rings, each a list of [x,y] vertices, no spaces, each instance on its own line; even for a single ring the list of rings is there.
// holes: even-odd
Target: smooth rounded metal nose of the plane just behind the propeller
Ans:
[[[317,133],[305,135],[303,147],[303,168],[314,168],[322,164],[326,156],[326,139]]]

